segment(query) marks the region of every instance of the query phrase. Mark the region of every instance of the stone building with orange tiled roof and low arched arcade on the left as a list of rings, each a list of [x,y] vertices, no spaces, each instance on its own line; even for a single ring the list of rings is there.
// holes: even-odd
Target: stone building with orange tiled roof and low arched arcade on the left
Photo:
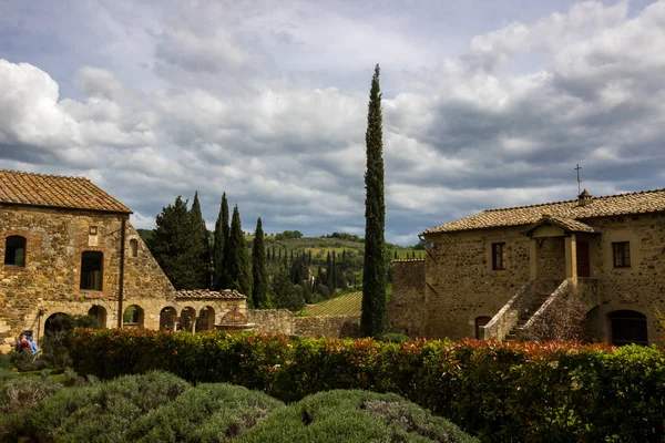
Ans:
[[[132,212],[86,178],[0,171],[0,350],[59,315],[101,327],[246,328],[245,296],[176,291]]]

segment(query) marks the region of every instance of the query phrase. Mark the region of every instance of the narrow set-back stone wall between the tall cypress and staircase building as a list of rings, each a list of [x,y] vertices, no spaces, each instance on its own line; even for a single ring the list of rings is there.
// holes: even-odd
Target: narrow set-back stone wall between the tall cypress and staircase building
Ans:
[[[392,260],[392,298],[386,312],[386,332],[422,337],[424,312],[424,259]]]

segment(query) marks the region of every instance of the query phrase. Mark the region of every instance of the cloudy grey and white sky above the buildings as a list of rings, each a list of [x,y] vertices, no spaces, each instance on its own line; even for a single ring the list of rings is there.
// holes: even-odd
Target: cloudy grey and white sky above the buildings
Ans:
[[[0,0],[0,168],[362,235],[376,63],[390,241],[665,187],[665,1]]]

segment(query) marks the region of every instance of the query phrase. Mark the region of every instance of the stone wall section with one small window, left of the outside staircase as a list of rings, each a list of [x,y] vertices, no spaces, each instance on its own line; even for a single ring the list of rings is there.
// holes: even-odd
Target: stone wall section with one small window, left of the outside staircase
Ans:
[[[474,337],[475,318],[493,317],[526,284],[529,241],[523,227],[426,236],[424,336]],[[505,243],[505,269],[492,269],[492,243]]]

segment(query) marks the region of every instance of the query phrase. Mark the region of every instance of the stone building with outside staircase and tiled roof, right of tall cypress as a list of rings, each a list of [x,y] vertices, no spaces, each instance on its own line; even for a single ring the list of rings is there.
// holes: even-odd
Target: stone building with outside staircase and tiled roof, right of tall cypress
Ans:
[[[424,261],[395,264],[393,287],[397,300],[426,307],[411,306],[411,328],[423,337],[520,336],[575,290],[589,339],[661,339],[665,189],[605,197],[584,190],[575,200],[489,209],[421,238]],[[413,275],[422,275],[419,284],[405,277]]]

